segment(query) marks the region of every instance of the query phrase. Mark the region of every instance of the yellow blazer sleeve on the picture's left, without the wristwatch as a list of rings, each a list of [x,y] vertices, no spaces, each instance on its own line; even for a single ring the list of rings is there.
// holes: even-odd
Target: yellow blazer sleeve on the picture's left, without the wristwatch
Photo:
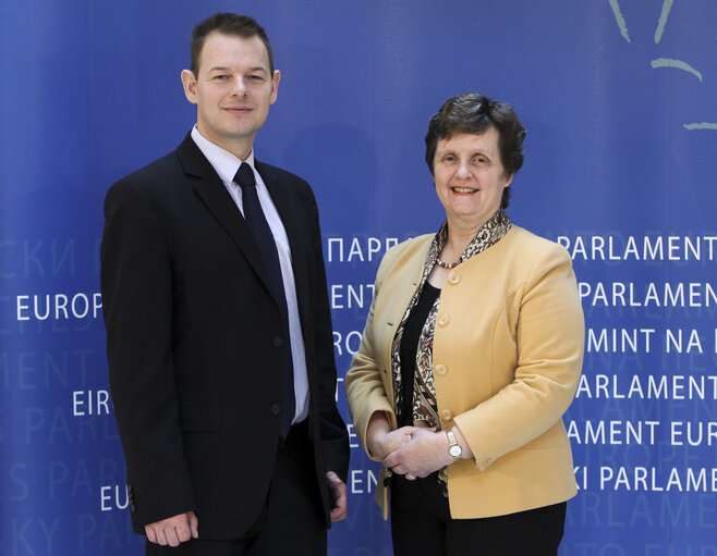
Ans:
[[[389,420],[391,429],[398,428],[393,404],[388,398],[381,380],[381,369],[378,363],[379,354],[376,353],[376,334],[386,333],[386,331],[384,330],[385,326],[377,330],[374,321],[377,305],[381,302],[381,284],[384,277],[389,272],[391,267],[390,261],[394,254],[394,250],[387,252],[378,268],[374,284],[374,299],[368,309],[361,346],[356,355],[354,355],[351,361],[351,368],[344,379],[347,401],[349,403],[349,411],[353,420],[354,432],[368,457],[375,461],[378,461],[378,459],[370,454],[366,446],[366,432],[373,415],[384,412]],[[391,369],[384,369],[384,371],[389,373],[386,380],[392,380],[390,376]]]

